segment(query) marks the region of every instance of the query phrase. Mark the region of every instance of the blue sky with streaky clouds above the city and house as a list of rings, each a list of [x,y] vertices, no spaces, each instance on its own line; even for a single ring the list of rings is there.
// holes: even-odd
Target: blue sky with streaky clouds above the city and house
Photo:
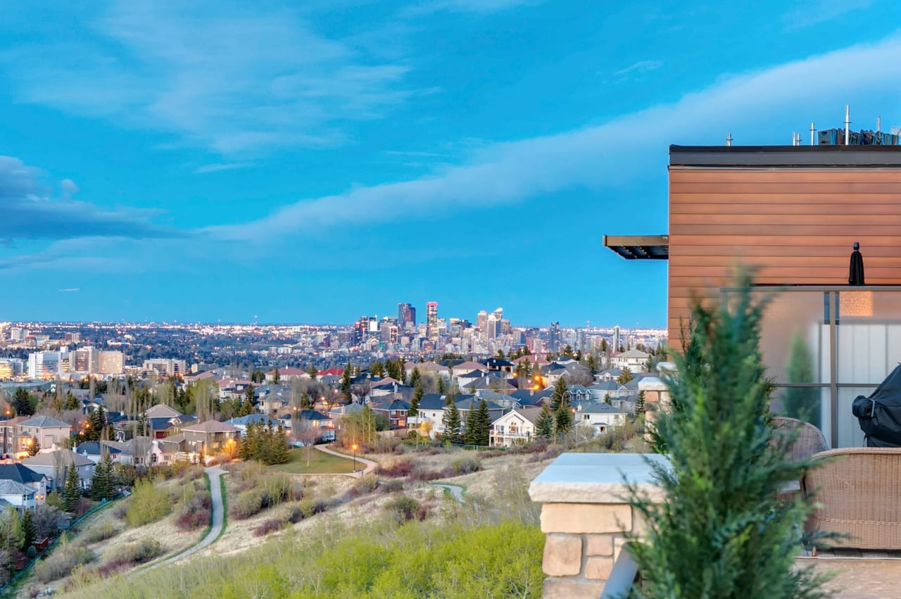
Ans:
[[[662,327],[670,143],[901,125],[896,2],[76,4],[0,19],[0,320]]]

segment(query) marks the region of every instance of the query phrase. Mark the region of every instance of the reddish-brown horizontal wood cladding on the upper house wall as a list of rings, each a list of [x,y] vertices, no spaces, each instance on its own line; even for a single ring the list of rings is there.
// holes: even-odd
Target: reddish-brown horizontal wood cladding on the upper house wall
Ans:
[[[692,290],[728,286],[738,259],[760,267],[760,285],[847,285],[851,246],[860,241],[867,285],[901,285],[901,152],[892,155],[896,165],[820,168],[685,166],[672,156],[674,347]]]

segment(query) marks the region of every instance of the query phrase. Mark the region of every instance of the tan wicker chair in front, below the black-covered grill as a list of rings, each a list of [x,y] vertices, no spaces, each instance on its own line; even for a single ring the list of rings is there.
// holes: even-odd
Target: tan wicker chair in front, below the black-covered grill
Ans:
[[[833,547],[901,549],[901,448],[831,449],[802,481],[816,493],[815,530],[847,538]]]

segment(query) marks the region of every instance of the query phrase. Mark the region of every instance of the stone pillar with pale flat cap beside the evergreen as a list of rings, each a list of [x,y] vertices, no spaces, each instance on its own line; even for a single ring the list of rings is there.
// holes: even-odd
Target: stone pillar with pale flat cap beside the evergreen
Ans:
[[[626,532],[640,532],[639,515],[628,503],[626,481],[651,501],[660,490],[646,459],[660,455],[565,453],[529,486],[542,503],[542,566],[545,599],[597,599],[604,590]]]

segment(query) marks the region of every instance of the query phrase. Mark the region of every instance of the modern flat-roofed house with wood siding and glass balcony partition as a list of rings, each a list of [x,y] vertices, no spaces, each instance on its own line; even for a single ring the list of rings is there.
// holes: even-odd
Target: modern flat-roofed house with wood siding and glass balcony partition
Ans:
[[[823,132],[821,132],[823,133]],[[669,260],[669,342],[691,296],[728,298],[739,260],[752,293],[778,292],[760,349],[779,389],[806,389],[833,447],[860,446],[851,402],[901,356],[901,146],[669,147],[669,231],[605,236],[625,259]],[[865,285],[849,285],[860,242]],[[796,392],[792,392],[796,393]]]

